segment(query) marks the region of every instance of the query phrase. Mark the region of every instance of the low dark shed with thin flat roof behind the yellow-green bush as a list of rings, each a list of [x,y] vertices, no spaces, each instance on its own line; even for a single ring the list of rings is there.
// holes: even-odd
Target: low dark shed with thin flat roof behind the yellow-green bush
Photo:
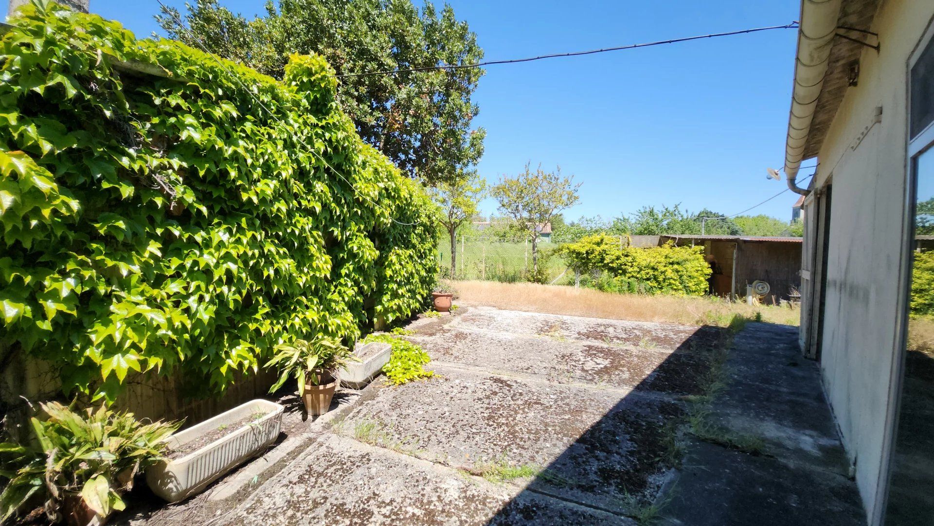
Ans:
[[[765,281],[771,291],[762,299],[773,305],[787,300],[800,286],[801,238],[748,235],[660,235],[658,245],[702,245],[714,269],[710,293],[744,297],[746,285]],[[797,295],[797,293],[796,293]]]

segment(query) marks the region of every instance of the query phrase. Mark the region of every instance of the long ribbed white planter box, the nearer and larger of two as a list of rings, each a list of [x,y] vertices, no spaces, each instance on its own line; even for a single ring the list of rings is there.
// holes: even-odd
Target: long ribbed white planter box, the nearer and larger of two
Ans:
[[[174,434],[169,438],[169,448],[179,448],[200,436],[217,430],[222,425],[232,424],[254,413],[261,411],[266,413],[261,419],[222,436],[184,457],[164,460],[149,466],[146,470],[146,482],[149,488],[170,503],[177,503],[204,490],[219,476],[247,461],[262,448],[276,442],[276,437],[282,428],[283,410],[282,405],[268,400],[253,400]]]

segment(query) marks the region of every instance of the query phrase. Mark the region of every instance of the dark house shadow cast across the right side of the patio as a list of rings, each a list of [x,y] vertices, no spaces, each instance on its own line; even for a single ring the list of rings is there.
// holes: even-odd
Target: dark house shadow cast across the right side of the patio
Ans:
[[[797,328],[701,327],[488,524],[865,524],[847,469]]]

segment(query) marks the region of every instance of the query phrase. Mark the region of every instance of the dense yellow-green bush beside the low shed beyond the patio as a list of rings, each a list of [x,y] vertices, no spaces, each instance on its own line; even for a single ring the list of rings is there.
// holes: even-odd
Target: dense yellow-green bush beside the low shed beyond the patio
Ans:
[[[561,245],[558,252],[581,273],[606,273],[602,289],[607,291],[701,296],[707,291],[711,274],[710,265],[703,259],[703,247],[675,247],[669,243],[651,249],[620,248],[614,237],[592,235]]]

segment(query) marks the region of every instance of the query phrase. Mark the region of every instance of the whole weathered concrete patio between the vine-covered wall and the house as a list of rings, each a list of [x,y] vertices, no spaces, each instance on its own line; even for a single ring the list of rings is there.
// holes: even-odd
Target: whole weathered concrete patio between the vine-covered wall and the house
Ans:
[[[793,327],[746,324],[705,405],[748,449],[689,432],[721,329],[485,306],[408,328],[438,377],[290,415],[285,441],[204,495],[115,522],[865,523]]]

